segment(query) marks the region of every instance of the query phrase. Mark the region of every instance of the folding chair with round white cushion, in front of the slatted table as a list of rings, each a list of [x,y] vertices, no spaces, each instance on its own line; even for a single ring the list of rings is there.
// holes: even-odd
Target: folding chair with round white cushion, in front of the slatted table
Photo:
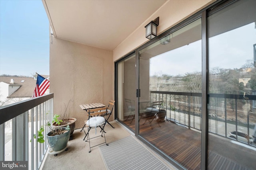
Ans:
[[[86,136],[84,138],[87,137],[86,142],[89,141],[89,146],[90,146],[89,153],[91,152],[92,147],[96,147],[98,145],[103,144],[103,143],[100,143],[98,145],[94,145],[94,146],[91,147],[91,144],[90,144],[91,139],[96,138],[96,137],[103,137],[103,135],[104,135],[104,140],[105,140],[104,143],[106,143],[104,127],[106,125],[107,112],[108,112],[108,107],[101,107],[101,108],[97,108],[97,109],[88,109],[87,110],[87,115],[90,118],[86,121],[86,127],[87,127],[88,131],[87,131]],[[104,117],[101,116],[102,114],[104,114]],[[93,115],[94,115],[94,117],[91,117]],[[95,116],[95,115],[97,115],[97,116]],[[95,133],[96,133],[97,127],[100,127],[100,129],[102,131],[101,135],[90,138],[90,136],[89,136],[90,130],[95,129]],[[107,143],[106,143],[106,145],[108,146]]]

